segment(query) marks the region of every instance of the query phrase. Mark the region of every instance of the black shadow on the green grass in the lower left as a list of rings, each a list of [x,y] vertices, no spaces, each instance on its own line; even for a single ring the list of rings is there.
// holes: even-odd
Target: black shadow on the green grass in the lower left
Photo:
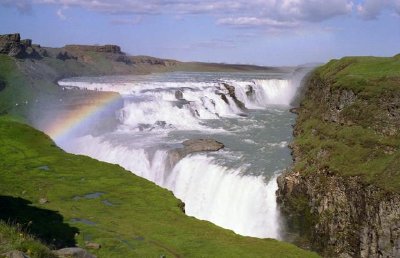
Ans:
[[[0,220],[17,224],[42,242],[54,248],[75,246],[74,236],[78,229],[63,222],[56,211],[31,206],[22,198],[0,196]]]

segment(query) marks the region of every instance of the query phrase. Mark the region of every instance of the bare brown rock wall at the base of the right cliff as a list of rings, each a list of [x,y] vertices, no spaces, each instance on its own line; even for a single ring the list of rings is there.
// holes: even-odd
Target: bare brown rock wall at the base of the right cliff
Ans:
[[[278,185],[278,202],[288,219],[309,220],[301,223],[311,226],[309,238],[315,250],[327,256],[400,257],[398,194],[327,170],[307,176],[284,174]],[[299,203],[304,198],[307,201]]]

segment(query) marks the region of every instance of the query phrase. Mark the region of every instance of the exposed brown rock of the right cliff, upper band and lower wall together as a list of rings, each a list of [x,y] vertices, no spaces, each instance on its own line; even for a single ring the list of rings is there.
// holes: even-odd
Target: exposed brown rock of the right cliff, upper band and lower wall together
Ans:
[[[310,117],[336,128],[357,125],[388,136],[400,132],[400,97],[395,92],[372,100],[313,76],[305,102],[313,104],[296,109],[296,137],[305,130],[299,124]],[[321,107],[320,117],[305,106]],[[317,136],[327,137],[316,132]],[[291,148],[294,169],[278,178],[277,191],[289,228],[308,238],[312,248],[326,257],[400,257],[400,194],[367,184],[360,176],[334,172],[329,163],[319,163],[329,155],[322,147],[313,160],[307,156],[310,150],[296,143]],[[317,165],[315,170],[305,172],[296,170],[300,163]]]

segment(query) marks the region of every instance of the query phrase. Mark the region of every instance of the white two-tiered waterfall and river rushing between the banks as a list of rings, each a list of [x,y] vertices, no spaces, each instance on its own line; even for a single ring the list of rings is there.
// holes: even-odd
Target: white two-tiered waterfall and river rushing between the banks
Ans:
[[[291,162],[289,107],[299,85],[292,76],[166,73],[60,81],[119,92],[124,104],[115,110],[116,130],[58,144],[170,189],[190,216],[241,235],[280,238],[276,176]],[[193,138],[213,138],[225,148],[171,163],[170,151]]]

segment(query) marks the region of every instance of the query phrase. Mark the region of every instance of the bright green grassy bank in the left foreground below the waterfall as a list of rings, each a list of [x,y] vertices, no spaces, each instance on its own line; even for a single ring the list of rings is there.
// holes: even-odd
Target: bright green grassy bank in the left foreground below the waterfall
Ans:
[[[19,223],[49,246],[89,240],[102,245],[92,251],[99,257],[317,256],[188,217],[171,192],[117,165],[65,153],[45,134],[5,116],[0,178],[0,204],[8,203],[2,220]],[[103,195],[84,198],[97,192]],[[39,204],[40,198],[48,203]]]

